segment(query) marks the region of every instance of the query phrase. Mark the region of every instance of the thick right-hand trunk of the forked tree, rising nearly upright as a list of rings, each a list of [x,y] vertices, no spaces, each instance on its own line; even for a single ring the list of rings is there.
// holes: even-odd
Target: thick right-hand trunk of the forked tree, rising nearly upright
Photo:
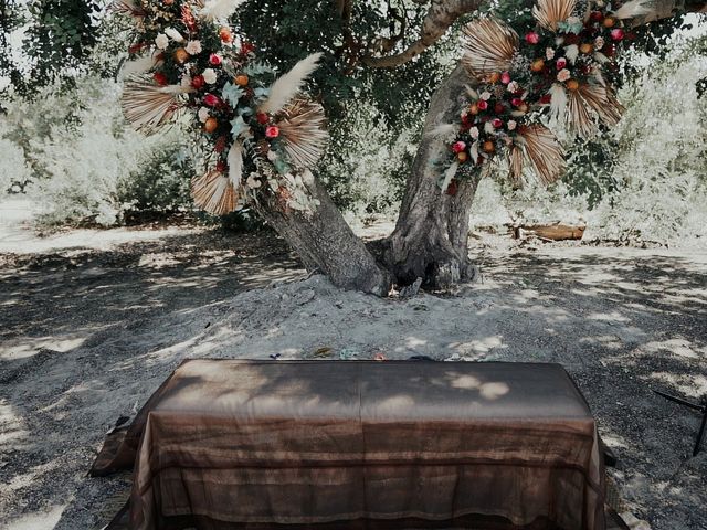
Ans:
[[[401,285],[418,277],[423,285],[445,289],[469,279],[468,216],[479,179],[458,182],[456,193],[439,186],[449,159],[449,140],[430,136],[441,124],[454,124],[471,84],[460,65],[432,96],[424,132],[408,180],[395,230],[378,253]]]

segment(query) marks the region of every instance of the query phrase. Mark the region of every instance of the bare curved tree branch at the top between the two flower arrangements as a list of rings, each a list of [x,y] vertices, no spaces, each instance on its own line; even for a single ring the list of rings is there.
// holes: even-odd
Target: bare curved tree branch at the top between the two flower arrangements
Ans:
[[[361,62],[366,66],[376,68],[400,66],[437,42],[456,19],[463,14],[476,11],[482,2],[483,0],[432,0],[430,9],[422,22],[420,38],[415,42],[411,43],[400,53],[382,57],[366,55],[361,57]]]

